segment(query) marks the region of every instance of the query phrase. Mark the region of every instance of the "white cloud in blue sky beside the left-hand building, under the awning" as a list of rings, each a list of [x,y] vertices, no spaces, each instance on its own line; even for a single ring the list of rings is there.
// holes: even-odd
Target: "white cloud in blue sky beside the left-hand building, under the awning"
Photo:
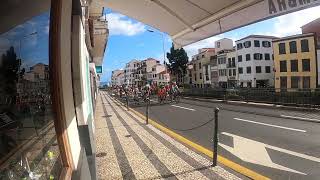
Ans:
[[[124,15],[109,13],[106,17],[108,20],[110,35],[134,36],[146,31],[144,24],[140,22],[133,22]]]

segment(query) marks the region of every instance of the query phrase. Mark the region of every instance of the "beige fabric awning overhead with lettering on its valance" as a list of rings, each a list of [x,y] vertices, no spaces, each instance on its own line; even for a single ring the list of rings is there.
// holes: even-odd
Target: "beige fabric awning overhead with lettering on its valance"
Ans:
[[[185,46],[271,17],[319,5],[315,0],[105,0],[105,6]]]

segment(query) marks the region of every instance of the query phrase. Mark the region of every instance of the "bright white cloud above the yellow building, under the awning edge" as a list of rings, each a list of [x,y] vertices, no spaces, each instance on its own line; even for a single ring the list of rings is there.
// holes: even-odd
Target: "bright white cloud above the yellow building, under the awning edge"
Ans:
[[[320,6],[297,11],[275,18],[273,31],[267,34],[278,37],[300,34],[301,26],[320,17]]]

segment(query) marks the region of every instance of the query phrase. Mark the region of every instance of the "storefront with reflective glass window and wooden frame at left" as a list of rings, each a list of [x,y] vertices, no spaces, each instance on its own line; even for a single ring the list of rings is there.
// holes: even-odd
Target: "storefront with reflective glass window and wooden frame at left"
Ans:
[[[88,49],[102,21],[89,28],[81,0],[1,3],[0,179],[94,179],[99,77]]]

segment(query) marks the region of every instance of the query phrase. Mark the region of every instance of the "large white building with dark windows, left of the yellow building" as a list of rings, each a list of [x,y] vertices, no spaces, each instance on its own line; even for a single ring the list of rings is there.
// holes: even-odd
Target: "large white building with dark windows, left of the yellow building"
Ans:
[[[236,41],[240,87],[273,87],[273,36],[250,35]]]

